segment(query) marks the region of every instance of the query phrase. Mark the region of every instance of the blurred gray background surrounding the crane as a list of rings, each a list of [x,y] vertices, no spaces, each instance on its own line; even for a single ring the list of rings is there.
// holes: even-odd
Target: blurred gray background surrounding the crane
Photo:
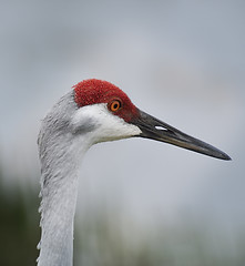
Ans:
[[[33,259],[22,259],[34,265],[40,121],[88,78],[116,84],[233,161],[140,139],[93,146],[82,163],[75,265],[245,265],[244,13],[238,0],[1,1],[1,265],[14,265],[13,243],[27,238],[14,233],[17,194],[34,235]],[[17,221],[9,231],[7,209]]]

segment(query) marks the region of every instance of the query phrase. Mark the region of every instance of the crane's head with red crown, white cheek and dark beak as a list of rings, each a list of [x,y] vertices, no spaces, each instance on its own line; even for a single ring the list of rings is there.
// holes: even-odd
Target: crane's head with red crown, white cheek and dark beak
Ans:
[[[137,109],[129,96],[110,82],[90,79],[73,86],[78,110],[71,125],[88,134],[90,145],[140,136],[173,144],[222,160],[231,157],[218,149]]]

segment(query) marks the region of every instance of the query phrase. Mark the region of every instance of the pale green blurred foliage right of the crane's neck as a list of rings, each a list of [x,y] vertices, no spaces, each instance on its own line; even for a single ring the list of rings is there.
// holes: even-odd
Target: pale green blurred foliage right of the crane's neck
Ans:
[[[231,243],[203,225],[166,224],[142,232],[118,223],[115,213],[88,212],[76,221],[75,265],[82,266],[244,266],[245,231]],[[129,229],[129,234],[125,233]]]

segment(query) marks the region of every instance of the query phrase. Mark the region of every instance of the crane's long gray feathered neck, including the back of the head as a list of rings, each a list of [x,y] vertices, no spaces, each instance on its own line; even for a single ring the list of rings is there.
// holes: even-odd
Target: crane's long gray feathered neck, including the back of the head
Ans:
[[[69,93],[43,120],[39,134],[42,202],[38,266],[71,266],[73,260],[78,172],[89,149],[84,136],[75,135],[70,129],[74,110]]]

